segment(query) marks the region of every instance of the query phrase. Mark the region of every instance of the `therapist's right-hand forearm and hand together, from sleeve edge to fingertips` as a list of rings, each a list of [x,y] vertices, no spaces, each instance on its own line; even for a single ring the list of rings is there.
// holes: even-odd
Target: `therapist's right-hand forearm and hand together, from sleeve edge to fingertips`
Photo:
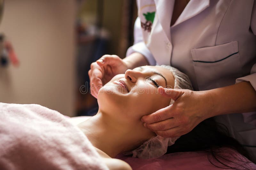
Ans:
[[[158,92],[175,102],[141,121],[163,137],[184,135],[209,117],[256,110],[256,92],[248,81],[205,91],[159,87]]]

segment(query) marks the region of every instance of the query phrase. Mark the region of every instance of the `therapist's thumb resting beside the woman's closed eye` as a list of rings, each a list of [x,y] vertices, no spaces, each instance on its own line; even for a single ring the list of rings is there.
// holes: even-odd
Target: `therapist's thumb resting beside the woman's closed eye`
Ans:
[[[160,93],[161,95],[171,98],[174,101],[177,100],[181,95],[184,94],[184,90],[183,89],[167,89],[167,88],[163,88],[163,87],[159,87],[158,88],[158,93]]]

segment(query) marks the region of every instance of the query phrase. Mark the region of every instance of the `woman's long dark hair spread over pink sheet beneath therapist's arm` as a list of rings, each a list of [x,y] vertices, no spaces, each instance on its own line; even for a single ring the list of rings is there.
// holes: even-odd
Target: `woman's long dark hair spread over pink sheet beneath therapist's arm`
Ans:
[[[230,152],[227,152],[227,149]],[[232,154],[232,150],[236,150],[251,160],[250,154],[244,147],[236,139],[229,136],[227,127],[215,122],[213,118],[209,118],[198,124],[189,133],[177,139],[174,145],[168,147],[167,153],[207,152],[209,162],[216,167],[246,169],[247,167],[244,165],[250,162],[242,159],[238,154]],[[218,165],[216,165],[216,162]]]

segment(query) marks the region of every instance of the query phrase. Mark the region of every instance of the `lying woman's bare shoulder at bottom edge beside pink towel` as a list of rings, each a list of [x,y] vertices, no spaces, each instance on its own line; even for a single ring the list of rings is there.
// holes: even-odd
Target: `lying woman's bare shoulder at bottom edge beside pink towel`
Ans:
[[[132,170],[132,167],[121,159],[103,158],[110,170]]]

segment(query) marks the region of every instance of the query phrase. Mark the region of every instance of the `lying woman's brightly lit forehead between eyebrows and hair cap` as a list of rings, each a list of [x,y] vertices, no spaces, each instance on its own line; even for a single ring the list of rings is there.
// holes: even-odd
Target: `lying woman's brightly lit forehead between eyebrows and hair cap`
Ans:
[[[170,70],[160,66],[142,66],[141,68],[137,67],[135,69],[141,70],[143,72],[148,72],[148,73],[150,72],[161,73],[166,78],[167,85],[171,85],[172,87],[174,87],[174,77]]]

